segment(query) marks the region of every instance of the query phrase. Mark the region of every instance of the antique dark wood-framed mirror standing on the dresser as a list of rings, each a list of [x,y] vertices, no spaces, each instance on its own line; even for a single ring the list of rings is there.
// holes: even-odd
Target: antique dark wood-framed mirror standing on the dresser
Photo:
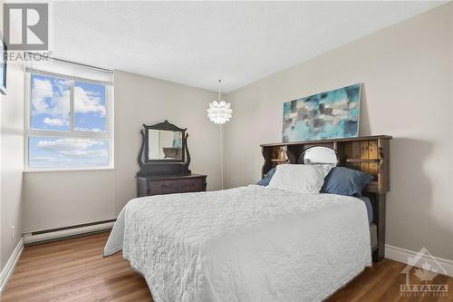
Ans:
[[[188,175],[190,154],[187,129],[169,123],[143,125],[138,176]]]

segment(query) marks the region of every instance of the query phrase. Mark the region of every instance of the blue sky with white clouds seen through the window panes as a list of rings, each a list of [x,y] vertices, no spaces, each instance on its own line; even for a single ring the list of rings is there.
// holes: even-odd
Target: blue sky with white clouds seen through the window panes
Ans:
[[[68,137],[30,137],[29,166],[90,167],[108,165],[109,142],[70,136],[72,81],[32,74],[32,129],[68,132]],[[105,132],[105,86],[73,82],[74,131]]]

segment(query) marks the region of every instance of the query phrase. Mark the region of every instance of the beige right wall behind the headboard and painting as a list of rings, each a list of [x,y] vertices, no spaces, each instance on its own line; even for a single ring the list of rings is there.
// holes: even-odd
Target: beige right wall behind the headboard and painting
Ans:
[[[259,144],[282,139],[283,103],[364,83],[361,135],[390,134],[387,244],[453,259],[453,5],[393,25],[226,98],[226,187],[253,183]],[[289,45],[288,45],[289,46]]]

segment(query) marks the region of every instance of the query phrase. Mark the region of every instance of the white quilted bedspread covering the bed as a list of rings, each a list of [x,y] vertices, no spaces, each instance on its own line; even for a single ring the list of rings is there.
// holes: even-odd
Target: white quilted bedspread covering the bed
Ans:
[[[248,186],[144,197],[104,249],[160,301],[320,301],[371,266],[365,204]]]

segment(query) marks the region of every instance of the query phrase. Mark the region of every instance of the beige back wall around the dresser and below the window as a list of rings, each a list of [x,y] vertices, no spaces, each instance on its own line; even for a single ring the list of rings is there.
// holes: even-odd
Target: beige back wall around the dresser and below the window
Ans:
[[[24,174],[24,231],[116,218],[136,196],[140,129],[168,119],[188,128],[190,169],[220,188],[219,132],[206,116],[216,93],[132,73],[115,73],[115,169]]]

